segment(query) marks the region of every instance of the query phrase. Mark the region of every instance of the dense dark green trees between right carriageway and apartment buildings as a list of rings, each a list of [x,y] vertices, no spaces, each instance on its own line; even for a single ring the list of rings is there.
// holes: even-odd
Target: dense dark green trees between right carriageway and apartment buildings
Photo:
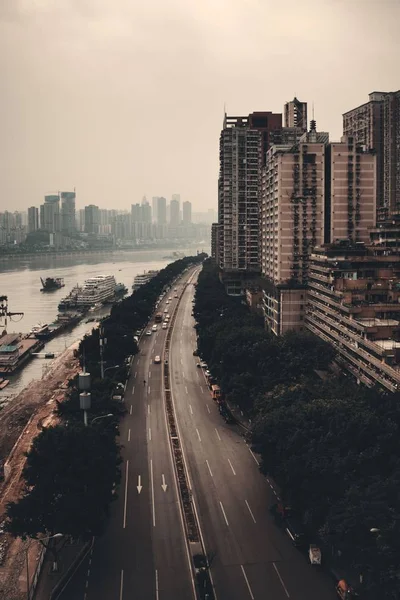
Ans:
[[[252,418],[262,472],[366,597],[399,598],[400,395],[320,380],[332,348],[308,333],[271,336],[209,262],[195,316],[200,355]]]

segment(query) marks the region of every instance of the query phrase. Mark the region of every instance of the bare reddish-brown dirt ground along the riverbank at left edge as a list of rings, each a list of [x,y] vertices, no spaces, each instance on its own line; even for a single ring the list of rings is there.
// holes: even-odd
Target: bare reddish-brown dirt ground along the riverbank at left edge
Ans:
[[[10,476],[0,485],[0,523],[8,502],[15,501],[22,489],[21,473],[24,453],[42,426],[57,421],[53,414],[55,400],[64,398],[68,380],[79,370],[74,358],[74,344],[58,356],[50,371],[40,380],[32,381],[0,412],[0,458],[6,461],[18,440],[10,460]],[[29,423],[29,424],[28,424]],[[28,426],[27,426],[28,425]],[[24,430],[25,428],[25,430]],[[21,435],[22,434],[22,435]],[[20,438],[20,439],[18,439]],[[0,525],[0,600],[22,600],[27,592],[26,557],[29,579],[32,578],[40,554],[37,542],[14,540],[2,533]]]

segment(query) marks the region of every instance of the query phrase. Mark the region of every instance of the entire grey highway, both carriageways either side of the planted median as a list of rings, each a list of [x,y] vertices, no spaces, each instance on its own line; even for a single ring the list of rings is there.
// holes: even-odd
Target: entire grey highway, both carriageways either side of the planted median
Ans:
[[[176,287],[182,298],[170,342],[170,386],[217,600],[335,600],[332,581],[308,564],[269,514],[273,484],[259,473],[240,428],[220,416],[196,366],[195,288]],[[172,315],[179,299],[172,290],[167,297]],[[166,308],[167,297],[158,310]],[[106,533],[95,540],[62,600],[196,598],[167,435],[163,364],[154,364],[156,355],[163,358],[165,337],[159,326],[141,339],[120,425],[118,498]]]

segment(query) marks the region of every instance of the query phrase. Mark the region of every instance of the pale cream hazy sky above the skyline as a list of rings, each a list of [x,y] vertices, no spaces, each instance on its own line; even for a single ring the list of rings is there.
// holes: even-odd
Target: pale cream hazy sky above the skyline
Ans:
[[[228,114],[400,88],[399,0],[0,0],[0,210],[180,193],[216,208]],[[311,113],[311,110],[309,110]]]

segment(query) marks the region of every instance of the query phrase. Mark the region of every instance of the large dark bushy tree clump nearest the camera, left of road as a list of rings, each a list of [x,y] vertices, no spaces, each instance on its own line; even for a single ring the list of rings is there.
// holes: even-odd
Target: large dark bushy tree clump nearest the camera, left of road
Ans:
[[[7,530],[22,538],[99,535],[120,463],[115,431],[105,423],[44,429],[27,455],[24,493],[8,504]]]

